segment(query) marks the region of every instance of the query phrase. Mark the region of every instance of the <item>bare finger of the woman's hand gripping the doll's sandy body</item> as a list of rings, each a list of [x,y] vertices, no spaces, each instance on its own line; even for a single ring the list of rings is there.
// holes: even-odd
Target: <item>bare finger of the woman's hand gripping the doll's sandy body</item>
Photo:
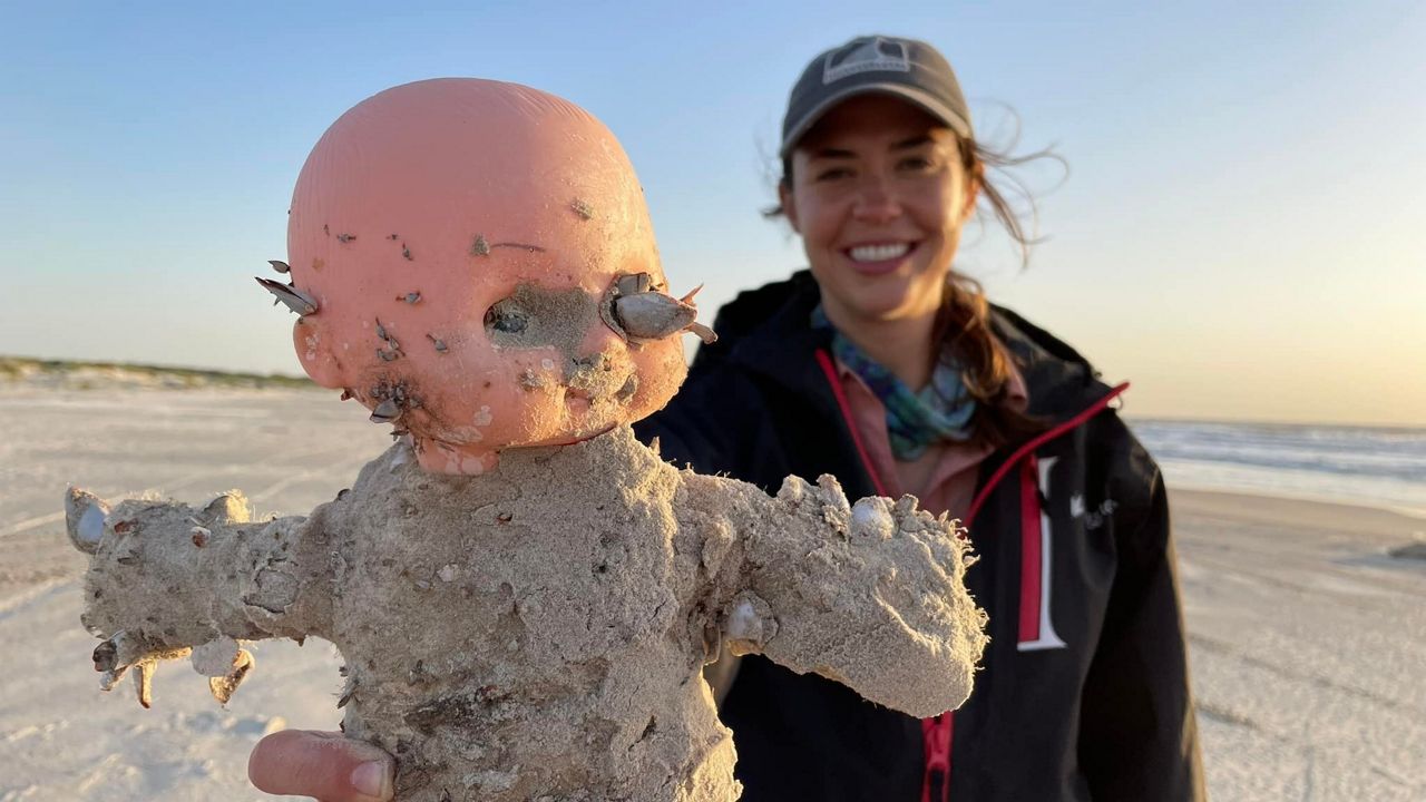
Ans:
[[[248,758],[248,779],[260,791],[322,802],[385,802],[394,773],[391,755],[339,732],[284,729],[258,741]]]

